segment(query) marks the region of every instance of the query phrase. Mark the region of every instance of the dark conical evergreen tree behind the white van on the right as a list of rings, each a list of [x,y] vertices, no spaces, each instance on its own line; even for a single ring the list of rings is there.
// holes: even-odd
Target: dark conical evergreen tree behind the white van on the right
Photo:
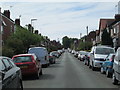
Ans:
[[[103,30],[101,44],[102,45],[113,46],[112,37],[110,36],[110,34],[107,32],[106,29]]]

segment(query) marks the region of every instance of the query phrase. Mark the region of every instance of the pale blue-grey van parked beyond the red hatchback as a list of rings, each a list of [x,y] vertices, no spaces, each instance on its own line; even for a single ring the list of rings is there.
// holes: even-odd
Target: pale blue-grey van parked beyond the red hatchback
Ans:
[[[28,53],[34,53],[43,67],[47,67],[49,65],[49,55],[48,51],[44,47],[32,47],[29,48]]]

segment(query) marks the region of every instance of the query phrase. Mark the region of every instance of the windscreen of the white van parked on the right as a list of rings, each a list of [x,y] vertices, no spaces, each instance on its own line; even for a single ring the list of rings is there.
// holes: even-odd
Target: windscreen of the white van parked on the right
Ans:
[[[96,51],[95,51],[95,54],[108,55],[110,53],[114,53],[114,49],[111,49],[111,48],[96,48]]]

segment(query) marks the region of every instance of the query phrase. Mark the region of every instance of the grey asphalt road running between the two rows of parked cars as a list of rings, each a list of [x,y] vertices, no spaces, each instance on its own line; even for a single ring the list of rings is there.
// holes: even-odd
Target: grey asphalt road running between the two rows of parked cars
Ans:
[[[65,52],[56,64],[43,68],[40,79],[23,78],[24,88],[118,88],[112,79],[92,71],[72,54]]]

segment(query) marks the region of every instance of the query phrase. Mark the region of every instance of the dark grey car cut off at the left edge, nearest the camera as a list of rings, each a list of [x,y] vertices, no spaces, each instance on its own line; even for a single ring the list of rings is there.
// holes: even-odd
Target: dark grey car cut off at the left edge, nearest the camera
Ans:
[[[0,56],[0,89],[16,88],[23,90],[21,70],[13,60]]]

